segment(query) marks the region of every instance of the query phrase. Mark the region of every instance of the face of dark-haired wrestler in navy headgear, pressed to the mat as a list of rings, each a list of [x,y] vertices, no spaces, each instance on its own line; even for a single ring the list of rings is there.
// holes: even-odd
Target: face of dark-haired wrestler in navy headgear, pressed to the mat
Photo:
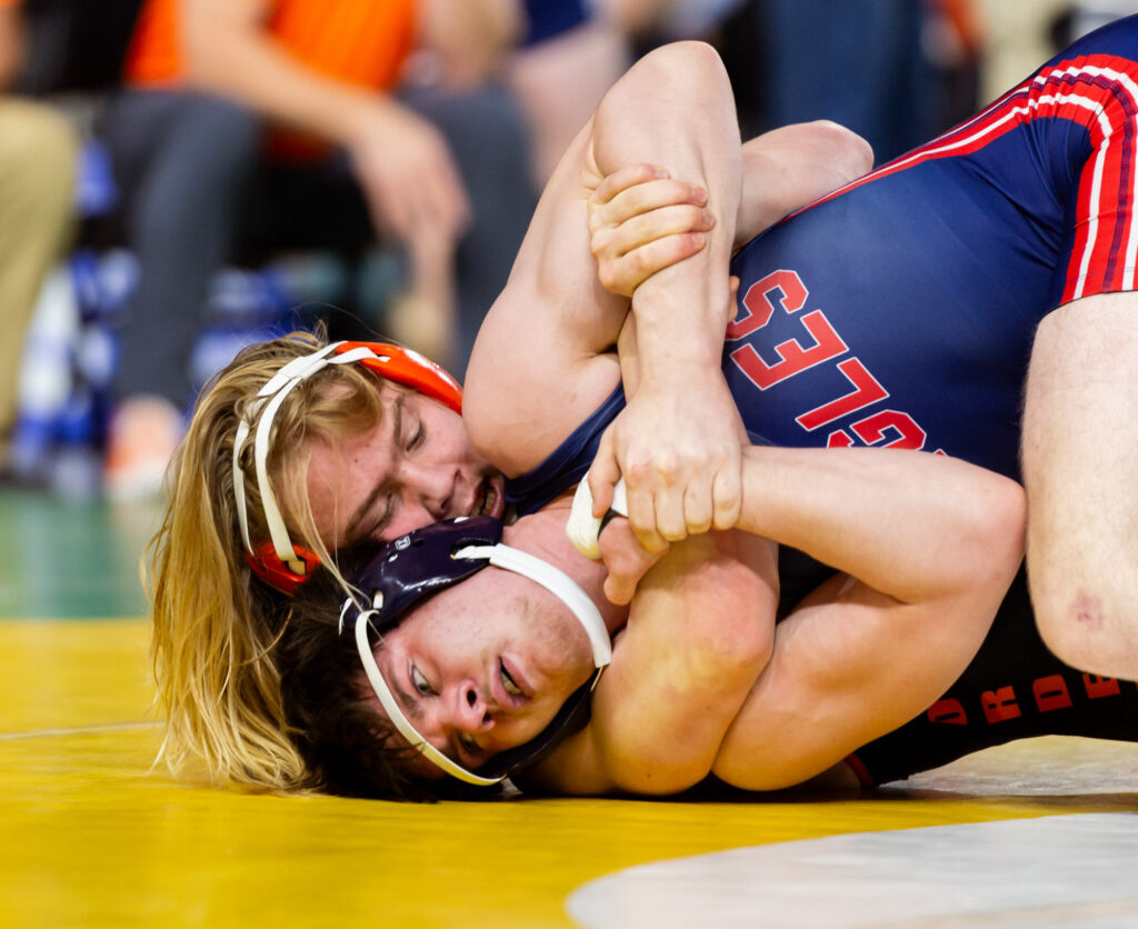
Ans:
[[[594,671],[574,614],[498,568],[414,610],[376,647],[376,661],[419,734],[470,770],[539,734]],[[382,714],[379,700],[371,702]],[[388,745],[405,741],[393,735]],[[442,776],[426,758],[412,770]]]

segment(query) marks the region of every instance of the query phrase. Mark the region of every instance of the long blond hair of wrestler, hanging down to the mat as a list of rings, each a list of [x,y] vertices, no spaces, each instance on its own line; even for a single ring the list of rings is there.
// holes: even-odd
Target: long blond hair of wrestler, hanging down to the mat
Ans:
[[[174,774],[204,764],[214,782],[277,790],[314,786],[289,739],[273,657],[291,607],[254,577],[246,561],[232,455],[238,424],[257,392],[286,363],[324,344],[318,330],[241,351],[203,390],[172,464],[168,503],[148,545],[148,568],[151,661],[165,723],[158,758]],[[381,414],[379,383],[358,364],[330,365],[289,394],[273,424],[269,470],[291,516],[294,541],[315,551],[340,584],[304,490],[307,443],[374,426]],[[256,542],[267,537],[267,528],[251,444],[250,436],[240,460]]]

